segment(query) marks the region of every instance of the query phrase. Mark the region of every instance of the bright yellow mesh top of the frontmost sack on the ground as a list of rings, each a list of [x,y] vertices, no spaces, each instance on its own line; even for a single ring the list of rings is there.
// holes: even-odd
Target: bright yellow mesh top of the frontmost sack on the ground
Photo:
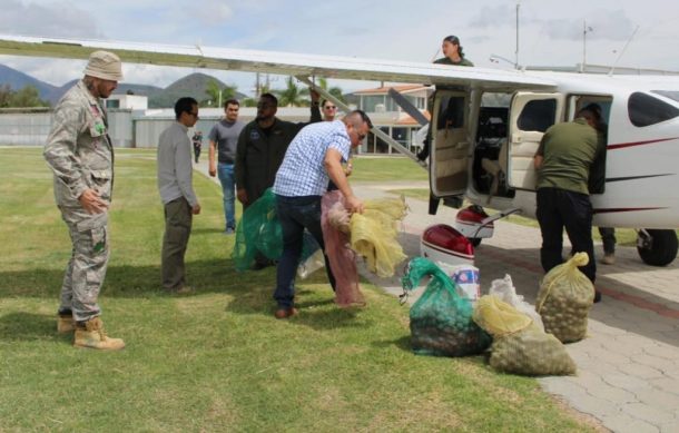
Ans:
[[[473,319],[493,337],[527,328],[533,319],[494,295],[481,296],[474,306]]]

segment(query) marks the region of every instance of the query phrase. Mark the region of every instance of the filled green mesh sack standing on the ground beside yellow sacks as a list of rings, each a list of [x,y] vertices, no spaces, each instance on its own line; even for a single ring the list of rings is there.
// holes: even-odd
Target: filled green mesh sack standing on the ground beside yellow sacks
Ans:
[[[480,354],[491,337],[472,321],[472,303],[457,295],[455,283],[439,266],[424,257],[413,258],[402,278],[403,289],[413,291],[430,275],[424,293],[411,307],[413,352],[435,356]]]

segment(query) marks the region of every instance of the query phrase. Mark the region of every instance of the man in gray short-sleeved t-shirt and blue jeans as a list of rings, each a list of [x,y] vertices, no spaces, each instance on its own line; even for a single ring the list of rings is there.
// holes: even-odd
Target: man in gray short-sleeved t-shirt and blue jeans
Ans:
[[[224,104],[224,119],[213,127],[208,136],[209,175],[219,175],[222,191],[224,194],[224,217],[226,219],[225,233],[236,232],[236,177],[234,161],[236,160],[236,145],[238,135],[245,124],[238,121],[240,104],[237,99],[229,99]],[[215,164],[215,154],[218,150],[218,164]]]

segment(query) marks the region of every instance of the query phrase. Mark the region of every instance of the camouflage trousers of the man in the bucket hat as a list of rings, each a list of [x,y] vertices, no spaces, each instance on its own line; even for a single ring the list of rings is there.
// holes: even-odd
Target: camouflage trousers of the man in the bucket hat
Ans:
[[[89,215],[82,209],[60,208],[71,237],[71,258],[61,285],[59,312],[88,321],[101,313],[97,299],[108,265],[108,213]]]

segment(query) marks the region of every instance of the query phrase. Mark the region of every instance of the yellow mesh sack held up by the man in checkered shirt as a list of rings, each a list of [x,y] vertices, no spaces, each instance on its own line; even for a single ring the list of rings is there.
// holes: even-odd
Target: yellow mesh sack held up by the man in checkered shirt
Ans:
[[[380,277],[393,276],[396,265],[406,257],[396,239],[396,223],[405,217],[406,209],[403,197],[382,198],[366,200],[363,214],[352,215],[352,249]]]

